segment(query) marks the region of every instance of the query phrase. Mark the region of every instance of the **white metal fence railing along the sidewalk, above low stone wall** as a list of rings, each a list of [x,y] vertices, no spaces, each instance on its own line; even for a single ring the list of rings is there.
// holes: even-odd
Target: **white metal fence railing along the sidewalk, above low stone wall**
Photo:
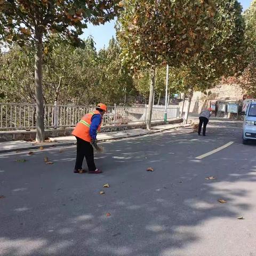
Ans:
[[[74,127],[81,117],[95,106],[44,105],[45,128]],[[121,125],[146,122],[147,106],[108,107],[103,116],[103,125]],[[164,119],[164,107],[154,106],[152,121]],[[167,118],[179,116],[179,106],[167,108]],[[29,130],[36,128],[36,105],[0,103],[0,130]]]

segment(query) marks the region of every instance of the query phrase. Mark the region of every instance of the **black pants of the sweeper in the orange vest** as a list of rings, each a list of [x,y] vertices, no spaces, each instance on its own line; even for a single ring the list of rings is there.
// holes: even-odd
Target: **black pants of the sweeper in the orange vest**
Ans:
[[[95,171],[96,166],[94,164],[93,147],[90,142],[82,140],[76,137],[76,165],[75,169],[82,169],[84,157],[86,159],[89,171]]]

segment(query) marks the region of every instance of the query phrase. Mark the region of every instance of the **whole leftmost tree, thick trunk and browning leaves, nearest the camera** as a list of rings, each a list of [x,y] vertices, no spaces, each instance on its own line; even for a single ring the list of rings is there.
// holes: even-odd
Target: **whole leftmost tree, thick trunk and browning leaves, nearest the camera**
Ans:
[[[44,43],[58,34],[73,44],[87,27],[115,17],[119,0],[12,0],[0,1],[0,39],[35,48],[36,141],[44,141],[42,63]]]

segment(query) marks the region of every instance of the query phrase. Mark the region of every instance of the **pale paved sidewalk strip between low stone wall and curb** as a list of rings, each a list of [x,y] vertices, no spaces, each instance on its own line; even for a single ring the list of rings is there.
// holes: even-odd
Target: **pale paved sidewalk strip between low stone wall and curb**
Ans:
[[[145,129],[133,129],[133,130],[127,130],[127,131],[118,131],[118,132],[106,132],[106,133],[99,133],[97,135],[97,139],[98,141],[124,139],[124,138],[143,136],[146,134],[163,132],[166,130],[176,129],[180,127],[188,127],[188,126],[190,126],[190,124],[185,124],[185,125],[182,123],[166,124],[166,125],[154,126],[150,131],[147,131]],[[6,141],[6,142],[0,142],[0,153],[39,149],[40,147],[50,148],[50,147],[70,146],[75,144],[76,144],[76,138],[74,136],[49,138],[49,141],[44,143],[28,142],[28,141],[22,141],[22,140]]]

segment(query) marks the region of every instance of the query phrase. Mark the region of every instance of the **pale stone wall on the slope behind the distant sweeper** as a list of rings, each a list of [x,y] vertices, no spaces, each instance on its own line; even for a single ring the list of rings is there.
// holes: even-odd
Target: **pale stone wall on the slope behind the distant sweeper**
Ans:
[[[191,105],[189,112],[198,114],[202,109],[210,107],[210,101],[242,101],[243,91],[238,85],[217,85],[211,90],[207,90],[206,94],[202,92],[194,92],[193,98],[191,100]],[[180,102],[180,107],[182,102]],[[186,111],[187,100],[185,101],[185,106],[183,111]]]

